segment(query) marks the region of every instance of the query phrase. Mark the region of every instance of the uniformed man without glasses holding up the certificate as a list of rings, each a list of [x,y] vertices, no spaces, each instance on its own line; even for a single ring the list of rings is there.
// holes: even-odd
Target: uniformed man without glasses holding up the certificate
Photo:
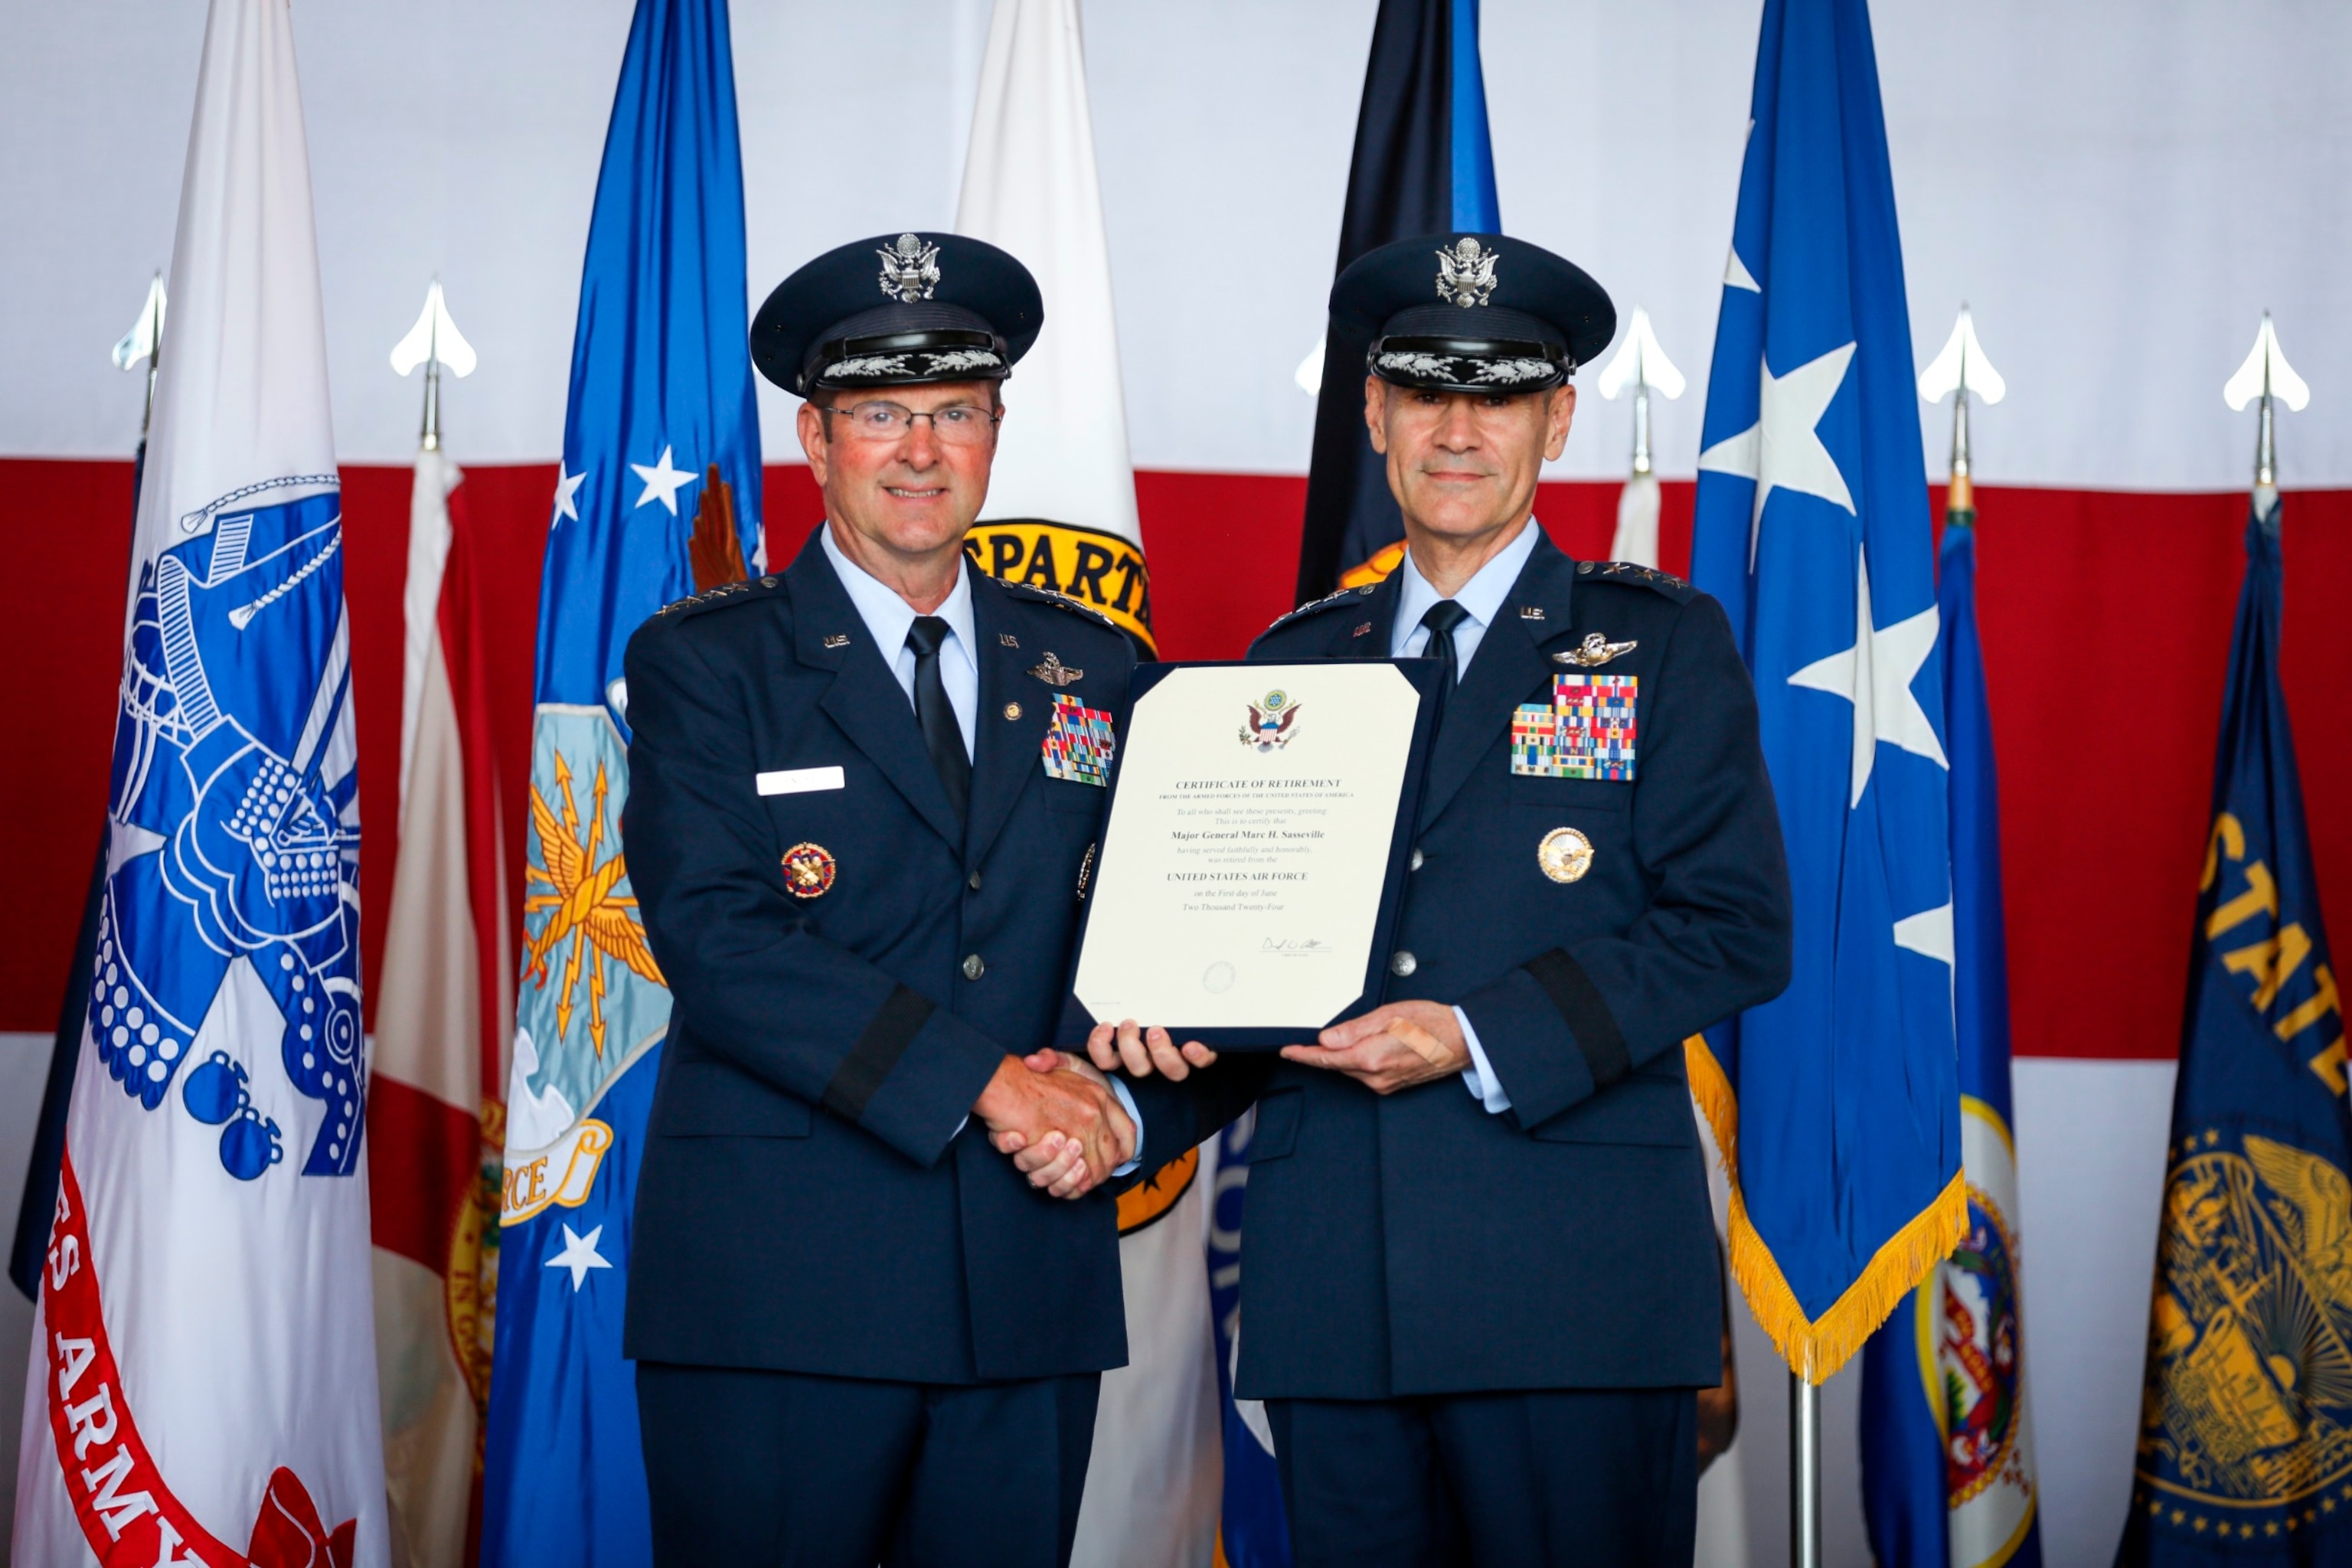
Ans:
[[[1534,520],[1599,284],[1430,235],[1331,310],[1374,339],[1406,557],[1249,656],[1451,665],[1385,1004],[1279,1060],[1089,1048],[1188,1077],[1204,1121],[1256,1095],[1237,1392],[1301,1568],[1684,1566],[1724,1295],[1682,1041],[1790,973],[1755,691],[1708,595]]]

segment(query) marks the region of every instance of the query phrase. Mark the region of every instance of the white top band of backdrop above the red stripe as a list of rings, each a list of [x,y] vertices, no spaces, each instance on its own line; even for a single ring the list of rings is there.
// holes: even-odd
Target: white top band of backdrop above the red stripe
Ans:
[[[828,244],[948,226],[988,0],[736,7],[760,296]],[[1486,0],[1505,226],[1644,303],[1698,447],[1757,0]],[[1134,454],[1298,473],[1374,0],[1089,0]],[[0,7],[0,454],[120,456],[106,348],[167,263],[202,0]],[[336,430],[402,461],[419,393],[383,355],[440,273],[482,369],[461,458],[553,458],[588,197],[628,0],[299,0]],[[2230,489],[2251,414],[2220,381],[2267,306],[2314,388],[2291,484],[2352,484],[2352,7],[2317,0],[1879,5],[1922,357],[1966,299],[2011,397],[2002,482]],[[854,134],[851,134],[854,132]],[[769,456],[793,456],[788,400]],[[1018,381],[1014,383],[1018,407]],[[1559,475],[1623,468],[1585,404]],[[1940,473],[1940,421],[1929,463]]]

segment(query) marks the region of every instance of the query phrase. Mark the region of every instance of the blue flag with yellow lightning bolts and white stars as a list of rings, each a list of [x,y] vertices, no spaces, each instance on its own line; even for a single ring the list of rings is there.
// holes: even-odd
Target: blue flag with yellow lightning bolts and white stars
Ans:
[[[621,853],[628,635],[760,559],[760,423],[724,0],[640,0],[588,219],[572,407],[539,602],[539,712],[482,1563],[652,1556],[630,1204],[670,994]],[[696,529],[696,522],[701,527]]]

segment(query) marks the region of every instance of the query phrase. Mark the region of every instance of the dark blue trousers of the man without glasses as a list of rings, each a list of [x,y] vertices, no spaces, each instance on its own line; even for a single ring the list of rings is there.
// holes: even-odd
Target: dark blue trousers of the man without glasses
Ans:
[[[1691,1389],[1270,1399],[1298,1568],[1691,1568]]]

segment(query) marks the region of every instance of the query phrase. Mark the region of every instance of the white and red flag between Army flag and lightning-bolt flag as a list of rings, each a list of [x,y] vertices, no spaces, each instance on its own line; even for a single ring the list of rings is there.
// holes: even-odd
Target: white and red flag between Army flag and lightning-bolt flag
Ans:
[[[367,1105],[383,1465],[412,1568],[456,1568],[473,1544],[499,1288],[499,1091],[515,1006],[461,477],[437,447],[416,454],[400,858]]]

